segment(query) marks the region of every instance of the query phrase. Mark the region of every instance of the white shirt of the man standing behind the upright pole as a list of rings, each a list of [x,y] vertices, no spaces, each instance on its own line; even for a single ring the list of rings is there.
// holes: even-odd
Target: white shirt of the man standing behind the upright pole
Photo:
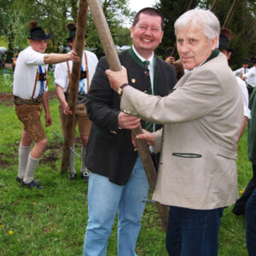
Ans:
[[[96,55],[88,50],[84,50],[87,57],[87,63],[88,63],[88,71],[89,71],[89,86],[91,79],[96,71],[96,66],[98,63],[98,59]],[[72,73],[72,67],[73,67],[73,61],[68,61],[70,73]],[[85,58],[84,58],[84,52],[82,55],[82,67],[83,70],[85,70]],[[88,77],[88,76],[87,76]],[[63,88],[64,92],[67,90],[69,77],[67,73],[67,61],[61,62],[59,64],[55,65],[55,85],[59,85]],[[88,93],[87,91],[87,78],[83,80],[79,80],[79,91],[83,91],[84,95]]]

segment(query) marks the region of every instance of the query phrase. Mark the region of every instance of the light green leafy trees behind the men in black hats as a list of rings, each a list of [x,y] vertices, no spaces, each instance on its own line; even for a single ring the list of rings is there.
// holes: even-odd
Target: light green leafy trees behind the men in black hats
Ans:
[[[78,3],[77,0],[0,0],[0,35],[8,38],[10,57],[15,50],[20,51],[28,45],[28,24],[31,20],[38,20],[38,26],[44,27],[47,33],[53,35],[47,52],[61,51],[63,46],[67,46],[67,23],[77,20]],[[116,44],[115,35],[121,30],[122,20],[133,15],[128,6],[129,1],[125,0],[102,0],[102,8]],[[87,46],[95,49],[98,57],[104,55],[90,11],[86,34]],[[125,44],[128,43],[129,38]]]

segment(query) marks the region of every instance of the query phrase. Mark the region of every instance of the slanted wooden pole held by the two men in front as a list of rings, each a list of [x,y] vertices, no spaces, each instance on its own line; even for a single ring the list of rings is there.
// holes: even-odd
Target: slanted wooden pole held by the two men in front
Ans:
[[[119,61],[119,56],[114,49],[113,38],[108,28],[108,23],[102,10],[102,5],[99,0],[87,0],[90,13],[93,16],[93,20],[96,25],[97,32],[102,42],[103,49],[105,51],[108,64],[111,70],[119,71],[121,69],[121,64]],[[132,137],[135,139],[138,149],[138,154],[143,162],[143,167],[148,177],[148,183],[150,188],[154,190],[156,183],[156,171],[154,168],[153,160],[151,158],[148,145],[145,141],[137,140],[136,136],[142,133],[142,127],[138,127],[131,131]],[[168,208],[166,206],[160,205],[156,202],[156,207],[160,213],[160,218],[165,230],[167,230],[168,224]]]

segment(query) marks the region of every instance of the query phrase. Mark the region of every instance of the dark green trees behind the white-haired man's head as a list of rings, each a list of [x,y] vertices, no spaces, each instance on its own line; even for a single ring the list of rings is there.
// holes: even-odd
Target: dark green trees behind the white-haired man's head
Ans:
[[[164,50],[175,45],[175,34],[173,25],[179,15],[182,15],[189,7],[189,0],[160,0],[156,8],[160,10],[165,18],[165,34],[157,52],[164,54]],[[210,9],[213,0],[195,0],[193,7]],[[220,0],[213,10],[218,16],[220,25],[223,26],[229,14],[233,0]],[[226,25],[234,34],[231,40],[231,47],[235,50],[230,58],[230,67],[236,69],[241,67],[241,61],[245,58],[252,58],[256,55],[256,3],[252,0],[237,1],[236,9]],[[177,53],[175,57],[178,58]]]

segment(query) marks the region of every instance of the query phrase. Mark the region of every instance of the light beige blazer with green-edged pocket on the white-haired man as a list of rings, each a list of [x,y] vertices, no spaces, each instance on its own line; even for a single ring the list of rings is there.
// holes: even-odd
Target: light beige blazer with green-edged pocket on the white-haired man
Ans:
[[[125,88],[121,109],[164,124],[154,133],[154,148],[161,151],[155,201],[191,209],[226,207],[236,201],[236,143],[243,122],[236,83],[220,53],[186,73],[168,96]]]

